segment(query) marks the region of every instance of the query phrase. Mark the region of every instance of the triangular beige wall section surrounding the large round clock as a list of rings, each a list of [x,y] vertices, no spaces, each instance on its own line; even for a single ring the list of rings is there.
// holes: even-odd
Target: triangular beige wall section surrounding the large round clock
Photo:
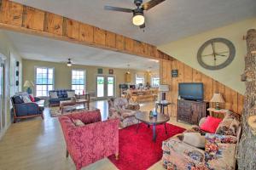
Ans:
[[[240,75],[244,71],[244,56],[247,54],[247,48],[246,42],[242,37],[247,34],[247,30],[252,28],[256,28],[256,18],[243,20],[230,26],[224,26],[192,37],[186,37],[176,42],[163,44],[158,48],[186,65],[201,71],[218,82],[222,82],[224,85],[236,90],[240,94],[244,94],[245,84],[241,82]],[[201,45],[214,37],[224,37],[233,42],[236,47],[236,57],[232,63],[224,69],[209,71],[198,64],[196,55]]]

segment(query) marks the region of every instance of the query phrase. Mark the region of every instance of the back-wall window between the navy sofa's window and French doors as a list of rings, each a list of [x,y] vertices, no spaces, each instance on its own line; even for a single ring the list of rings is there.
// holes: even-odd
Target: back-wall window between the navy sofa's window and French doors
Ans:
[[[73,70],[72,71],[72,89],[75,94],[84,94],[85,88],[85,71]]]

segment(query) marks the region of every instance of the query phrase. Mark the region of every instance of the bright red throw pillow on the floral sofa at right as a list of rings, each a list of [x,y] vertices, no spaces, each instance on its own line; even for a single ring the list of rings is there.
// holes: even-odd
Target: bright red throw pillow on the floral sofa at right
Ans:
[[[206,122],[202,123],[200,128],[208,133],[215,133],[220,122],[222,122],[222,119],[207,116]]]

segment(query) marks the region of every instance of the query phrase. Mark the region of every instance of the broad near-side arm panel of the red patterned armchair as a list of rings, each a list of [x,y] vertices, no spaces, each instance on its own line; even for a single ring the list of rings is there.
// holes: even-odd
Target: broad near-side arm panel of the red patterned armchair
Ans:
[[[84,165],[119,152],[119,119],[76,127],[69,134],[67,150]]]

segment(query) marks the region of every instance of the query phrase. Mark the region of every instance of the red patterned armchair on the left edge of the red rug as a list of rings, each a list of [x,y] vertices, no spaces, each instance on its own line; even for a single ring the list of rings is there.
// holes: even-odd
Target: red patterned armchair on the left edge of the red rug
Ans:
[[[80,120],[84,126],[76,126]],[[100,111],[86,111],[59,117],[70,155],[76,169],[119,153],[119,119],[103,121]]]

